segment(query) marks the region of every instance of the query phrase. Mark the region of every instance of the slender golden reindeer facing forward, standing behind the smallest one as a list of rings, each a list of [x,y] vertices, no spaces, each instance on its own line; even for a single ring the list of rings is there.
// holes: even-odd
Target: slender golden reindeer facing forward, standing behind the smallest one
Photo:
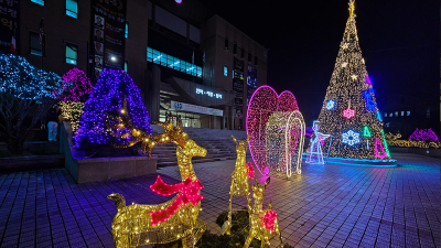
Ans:
[[[228,220],[226,220],[222,226],[222,235],[230,235],[233,196],[246,196],[248,201],[248,213],[251,212],[251,200],[249,195],[248,172],[246,165],[247,143],[249,141],[249,136],[247,136],[246,140],[239,140],[239,142],[237,142],[234,136],[232,136],[232,138],[233,141],[236,143],[237,159],[236,166],[232,175],[232,185],[229,187]]]

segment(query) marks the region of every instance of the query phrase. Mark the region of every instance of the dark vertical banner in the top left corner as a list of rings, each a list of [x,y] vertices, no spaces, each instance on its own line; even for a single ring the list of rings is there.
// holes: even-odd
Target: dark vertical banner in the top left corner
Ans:
[[[0,0],[0,53],[13,53],[19,47],[19,0]]]

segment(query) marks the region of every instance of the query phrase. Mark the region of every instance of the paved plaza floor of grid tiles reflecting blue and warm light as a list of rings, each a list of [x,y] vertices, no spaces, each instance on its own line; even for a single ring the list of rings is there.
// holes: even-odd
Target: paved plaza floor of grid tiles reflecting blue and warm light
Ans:
[[[440,247],[440,161],[395,158],[400,166],[303,164],[303,174],[291,181],[271,179],[265,207],[271,200],[283,239],[295,247]],[[228,207],[234,164],[195,164],[205,185],[200,218],[213,231]],[[166,183],[180,179],[178,168],[158,172]],[[116,208],[106,196],[118,192],[128,203],[165,202],[170,197],[149,188],[155,177],[77,185],[64,169],[0,174],[1,247],[112,247]],[[246,201],[234,203],[241,208]]]

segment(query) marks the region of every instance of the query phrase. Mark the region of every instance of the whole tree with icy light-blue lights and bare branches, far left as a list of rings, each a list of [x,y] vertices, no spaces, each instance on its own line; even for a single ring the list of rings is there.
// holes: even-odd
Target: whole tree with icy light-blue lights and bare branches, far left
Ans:
[[[0,54],[0,134],[13,154],[71,83],[32,66],[24,57]]]

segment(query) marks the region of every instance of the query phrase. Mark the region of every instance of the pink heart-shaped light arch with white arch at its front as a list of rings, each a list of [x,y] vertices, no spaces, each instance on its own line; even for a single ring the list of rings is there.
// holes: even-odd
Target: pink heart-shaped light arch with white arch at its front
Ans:
[[[249,150],[262,175],[290,177],[293,155],[298,157],[295,172],[301,173],[305,127],[292,93],[277,95],[270,86],[259,87],[248,104],[246,121]]]

